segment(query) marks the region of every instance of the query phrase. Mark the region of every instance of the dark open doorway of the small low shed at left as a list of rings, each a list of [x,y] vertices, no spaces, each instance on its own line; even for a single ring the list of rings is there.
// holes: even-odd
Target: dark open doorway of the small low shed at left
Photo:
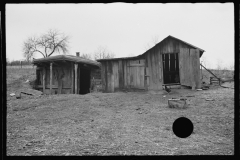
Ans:
[[[90,93],[90,69],[80,68],[80,90],[79,94]]]

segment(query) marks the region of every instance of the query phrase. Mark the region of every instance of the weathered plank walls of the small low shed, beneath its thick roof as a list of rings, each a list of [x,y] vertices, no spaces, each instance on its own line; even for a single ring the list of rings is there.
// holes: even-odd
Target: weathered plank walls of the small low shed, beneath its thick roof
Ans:
[[[84,77],[80,77],[80,68],[83,67],[82,64],[78,65],[78,76],[77,84],[80,84],[80,81]],[[49,65],[38,65],[38,84],[37,88],[43,90],[43,69],[45,68],[45,94],[50,94],[50,64]],[[101,73],[100,68],[88,67],[91,70],[91,78],[96,79],[96,85],[98,88],[101,88]],[[75,93],[75,66],[72,62],[65,63],[53,63],[52,66],[52,94],[68,94]],[[77,85],[77,92],[81,90],[80,85]]]

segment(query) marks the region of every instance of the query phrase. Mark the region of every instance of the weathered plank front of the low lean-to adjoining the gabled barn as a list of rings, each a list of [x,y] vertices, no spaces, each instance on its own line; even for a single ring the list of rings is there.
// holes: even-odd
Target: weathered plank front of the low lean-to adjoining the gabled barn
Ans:
[[[101,65],[103,92],[127,88],[144,89],[144,59],[105,61]]]

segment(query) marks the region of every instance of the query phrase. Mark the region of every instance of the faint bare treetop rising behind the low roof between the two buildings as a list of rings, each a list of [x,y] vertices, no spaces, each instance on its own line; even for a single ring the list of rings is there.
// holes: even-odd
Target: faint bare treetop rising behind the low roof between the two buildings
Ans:
[[[115,54],[112,51],[109,51],[106,47],[98,47],[97,51],[94,53],[94,59],[109,59],[114,58]]]

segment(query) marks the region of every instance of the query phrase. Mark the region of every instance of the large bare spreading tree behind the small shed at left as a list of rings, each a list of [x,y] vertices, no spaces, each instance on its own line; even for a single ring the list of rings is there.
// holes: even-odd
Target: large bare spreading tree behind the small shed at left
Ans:
[[[68,51],[68,36],[56,30],[49,30],[40,37],[30,37],[23,45],[23,55],[27,61],[33,58],[34,53],[40,53],[45,58],[61,51],[63,54],[66,54]]]

